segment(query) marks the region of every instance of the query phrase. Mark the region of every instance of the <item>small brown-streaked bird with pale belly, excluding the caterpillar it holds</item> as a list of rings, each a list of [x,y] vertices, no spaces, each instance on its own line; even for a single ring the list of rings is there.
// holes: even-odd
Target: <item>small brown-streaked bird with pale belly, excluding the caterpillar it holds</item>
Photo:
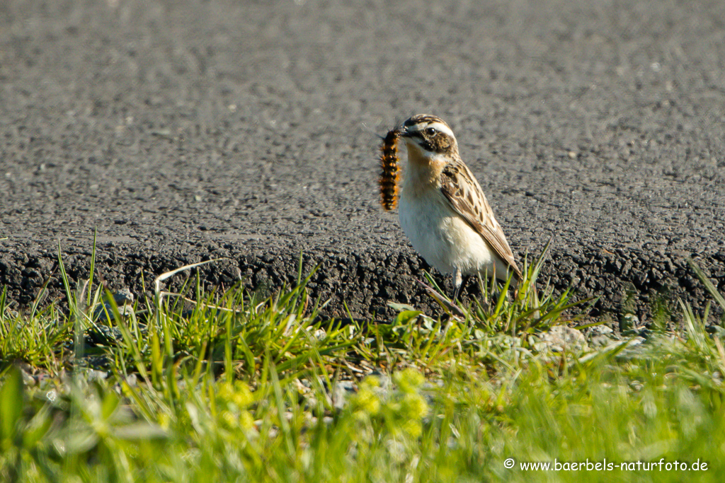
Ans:
[[[403,232],[428,265],[452,274],[455,303],[464,275],[522,280],[503,229],[481,185],[465,165],[443,119],[417,114],[397,127],[407,148],[399,189]]]

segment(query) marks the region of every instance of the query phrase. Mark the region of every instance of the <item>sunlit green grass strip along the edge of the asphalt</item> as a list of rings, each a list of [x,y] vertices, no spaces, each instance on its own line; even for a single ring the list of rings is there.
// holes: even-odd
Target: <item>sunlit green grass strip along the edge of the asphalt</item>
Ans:
[[[346,325],[320,319],[309,277],[258,298],[198,279],[182,297],[162,276],[121,316],[60,267],[63,310],[38,308],[41,293],[15,314],[0,296],[2,482],[719,482],[725,471],[723,332],[687,304],[682,332],[560,350],[546,334],[580,308],[541,282],[536,301],[540,263],[510,298],[482,284],[462,316],[397,306],[390,324]],[[115,336],[87,343],[108,332],[104,300]],[[707,469],[594,469],[697,460]]]

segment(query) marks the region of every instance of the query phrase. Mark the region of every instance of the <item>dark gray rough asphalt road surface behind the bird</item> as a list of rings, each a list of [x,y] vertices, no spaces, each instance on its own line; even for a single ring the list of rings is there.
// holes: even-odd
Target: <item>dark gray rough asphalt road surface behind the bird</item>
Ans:
[[[595,315],[627,290],[643,316],[701,306],[688,256],[725,287],[719,0],[3,0],[0,286],[31,301],[59,242],[87,276],[97,227],[99,273],[136,293],[216,256],[205,280],[275,287],[304,251],[331,314],[419,303],[375,136],[419,112],[515,252],[555,235],[547,276]]]

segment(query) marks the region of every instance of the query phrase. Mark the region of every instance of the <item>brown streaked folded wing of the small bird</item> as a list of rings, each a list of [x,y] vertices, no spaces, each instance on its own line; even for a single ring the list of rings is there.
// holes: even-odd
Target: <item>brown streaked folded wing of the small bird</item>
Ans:
[[[494,218],[494,213],[479,183],[465,164],[452,162],[444,167],[440,189],[451,208],[486,240],[500,259],[511,266],[515,277],[521,280],[521,269],[513,258],[513,252],[501,225]]]

